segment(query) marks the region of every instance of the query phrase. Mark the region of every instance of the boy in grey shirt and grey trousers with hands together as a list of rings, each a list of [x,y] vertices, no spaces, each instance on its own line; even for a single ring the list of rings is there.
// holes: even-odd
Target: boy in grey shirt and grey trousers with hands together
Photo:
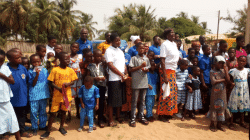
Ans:
[[[140,117],[140,122],[144,125],[148,125],[148,121],[144,118],[144,104],[145,96],[148,88],[148,78],[147,72],[150,68],[149,59],[144,55],[144,45],[142,43],[136,44],[138,54],[131,58],[129,63],[129,71],[132,74],[132,104],[131,104],[131,121],[130,126],[136,127],[135,113],[138,96],[140,94],[140,101],[138,107],[138,116]]]

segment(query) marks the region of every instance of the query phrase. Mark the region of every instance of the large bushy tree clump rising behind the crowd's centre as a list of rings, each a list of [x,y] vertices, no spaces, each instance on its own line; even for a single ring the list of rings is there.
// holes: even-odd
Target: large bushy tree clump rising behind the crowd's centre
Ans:
[[[148,41],[157,34],[158,23],[154,15],[155,9],[144,5],[123,6],[122,9],[116,9],[115,16],[110,18],[109,29],[116,31],[122,39],[129,40],[129,37],[140,35],[141,40]]]

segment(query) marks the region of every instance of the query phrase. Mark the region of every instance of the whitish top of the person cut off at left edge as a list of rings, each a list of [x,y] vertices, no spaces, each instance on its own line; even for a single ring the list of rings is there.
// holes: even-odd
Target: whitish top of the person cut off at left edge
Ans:
[[[0,72],[7,77],[11,75],[11,71],[6,64],[1,66]],[[0,103],[10,101],[11,97],[13,97],[13,93],[11,91],[10,85],[5,80],[0,78]]]

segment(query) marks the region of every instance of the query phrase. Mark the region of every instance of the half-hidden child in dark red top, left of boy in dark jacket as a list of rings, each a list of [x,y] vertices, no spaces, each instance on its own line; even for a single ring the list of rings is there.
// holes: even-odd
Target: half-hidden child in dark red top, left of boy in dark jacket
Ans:
[[[81,69],[82,81],[83,81],[84,78],[87,76],[88,65],[93,62],[93,53],[91,49],[85,48],[82,50],[82,54],[83,54],[84,61],[80,63],[80,69]]]

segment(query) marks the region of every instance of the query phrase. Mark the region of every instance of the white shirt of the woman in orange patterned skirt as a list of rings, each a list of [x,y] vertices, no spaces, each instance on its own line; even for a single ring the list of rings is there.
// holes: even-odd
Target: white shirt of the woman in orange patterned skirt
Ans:
[[[166,40],[161,45],[160,57],[165,58],[165,69],[176,70],[179,61],[179,50],[176,43]]]

